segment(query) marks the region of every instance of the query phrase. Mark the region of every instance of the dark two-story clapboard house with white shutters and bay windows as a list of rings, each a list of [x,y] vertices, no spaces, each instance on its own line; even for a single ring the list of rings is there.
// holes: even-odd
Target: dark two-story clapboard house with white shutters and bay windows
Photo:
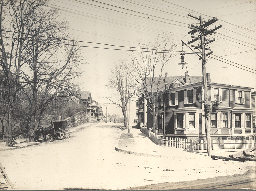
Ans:
[[[193,79],[191,76],[190,78]],[[255,140],[255,95],[253,88],[211,82],[207,74],[212,140]],[[168,137],[205,140],[204,90],[202,76],[176,86],[167,83],[158,98],[157,128]],[[191,79],[190,79],[191,81]],[[182,81],[181,81],[182,82]],[[218,103],[218,110],[212,104]],[[147,108],[147,127],[153,116]]]

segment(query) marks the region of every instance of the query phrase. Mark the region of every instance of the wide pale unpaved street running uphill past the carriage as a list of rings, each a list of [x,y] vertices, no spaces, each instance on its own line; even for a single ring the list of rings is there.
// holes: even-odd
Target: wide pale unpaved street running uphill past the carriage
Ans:
[[[18,190],[126,189],[255,172],[253,161],[212,160],[195,153],[173,159],[120,153],[114,149],[124,133],[119,125],[93,124],[73,132],[69,140],[1,151],[0,161]]]

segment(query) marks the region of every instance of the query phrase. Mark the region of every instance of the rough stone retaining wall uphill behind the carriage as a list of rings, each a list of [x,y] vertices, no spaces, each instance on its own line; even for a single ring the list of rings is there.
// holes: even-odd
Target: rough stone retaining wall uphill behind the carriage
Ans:
[[[67,121],[68,128],[72,128],[78,125],[92,122],[91,114],[88,113],[87,111],[78,112],[74,116],[68,117],[65,120]]]

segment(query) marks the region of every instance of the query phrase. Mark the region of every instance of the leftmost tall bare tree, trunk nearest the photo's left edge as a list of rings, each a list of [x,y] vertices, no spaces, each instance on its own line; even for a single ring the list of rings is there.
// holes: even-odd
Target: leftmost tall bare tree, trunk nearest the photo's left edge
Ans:
[[[6,146],[12,146],[13,104],[17,92],[28,85],[20,81],[20,71],[27,63],[25,48],[34,37],[31,36],[29,23],[31,15],[45,5],[46,1],[4,1],[0,0],[0,64],[7,79],[7,129]],[[12,84],[12,82],[14,82]]]

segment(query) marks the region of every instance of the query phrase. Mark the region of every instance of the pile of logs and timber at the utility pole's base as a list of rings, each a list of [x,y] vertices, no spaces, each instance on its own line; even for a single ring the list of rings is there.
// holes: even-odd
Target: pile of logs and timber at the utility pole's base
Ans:
[[[256,146],[240,151],[234,155],[229,155],[228,157],[211,155],[211,158],[231,161],[256,161]]]

